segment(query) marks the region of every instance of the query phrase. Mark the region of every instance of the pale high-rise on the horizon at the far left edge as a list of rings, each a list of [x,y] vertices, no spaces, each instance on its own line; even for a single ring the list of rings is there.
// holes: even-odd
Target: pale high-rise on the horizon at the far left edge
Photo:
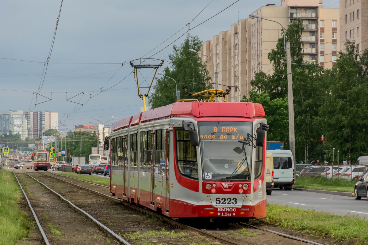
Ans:
[[[0,134],[20,134],[21,139],[27,137],[27,120],[23,111],[9,110],[0,114]]]

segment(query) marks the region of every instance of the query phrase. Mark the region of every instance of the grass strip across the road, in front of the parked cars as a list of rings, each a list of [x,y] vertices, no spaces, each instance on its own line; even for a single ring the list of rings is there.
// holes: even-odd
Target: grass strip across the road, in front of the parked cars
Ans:
[[[325,191],[341,191],[341,192],[354,192],[354,186],[357,180],[344,180],[344,179],[327,179],[324,177],[297,177],[296,183],[293,185],[295,188],[305,188],[312,190],[325,190]]]

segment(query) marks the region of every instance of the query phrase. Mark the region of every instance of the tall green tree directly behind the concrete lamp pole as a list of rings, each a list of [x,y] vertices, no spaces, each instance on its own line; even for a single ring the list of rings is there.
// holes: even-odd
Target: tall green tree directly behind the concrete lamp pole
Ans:
[[[319,108],[323,101],[323,82],[321,80],[323,67],[318,66],[315,62],[303,61],[303,44],[300,42],[302,31],[302,21],[298,19],[290,22],[285,31],[285,36],[286,41],[290,42],[292,57],[291,72],[293,76],[296,159],[297,162],[308,162],[309,156],[319,158],[318,150],[316,149],[319,149],[319,145],[322,144],[320,140],[322,136],[321,126],[317,123],[317,120]],[[251,81],[251,84],[257,91],[268,94],[270,101],[279,99],[286,99],[287,101],[287,64],[283,37],[277,41],[275,50],[269,52],[268,59],[272,63],[273,74],[256,73],[255,79]],[[270,110],[268,113],[270,114],[266,115],[269,117],[278,117],[278,114],[283,112]],[[277,126],[279,132],[273,134],[275,138],[272,138],[275,141],[284,140],[285,149],[289,147],[287,144],[289,142],[288,125],[289,123],[285,127]],[[271,123],[270,130],[272,127]],[[269,136],[270,134],[268,133],[268,140],[270,140]]]

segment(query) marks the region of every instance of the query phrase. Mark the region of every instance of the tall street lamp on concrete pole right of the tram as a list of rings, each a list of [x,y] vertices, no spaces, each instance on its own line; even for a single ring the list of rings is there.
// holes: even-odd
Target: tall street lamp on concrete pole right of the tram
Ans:
[[[264,19],[266,21],[272,21],[279,24],[284,31],[284,49],[286,50],[286,68],[287,68],[287,99],[289,104],[289,145],[291,153],[293,154],[294,164],[295,161],[295,131],[294,131],[294,101],[293,101],[293,79],[291,77],[291,54],[290,54],[290,42],[285,40],[285,28],[277,21],[272,19],[261,18],[256,14],[250,14],[249,18]],[[294,166],[295,167],[295,166]]]

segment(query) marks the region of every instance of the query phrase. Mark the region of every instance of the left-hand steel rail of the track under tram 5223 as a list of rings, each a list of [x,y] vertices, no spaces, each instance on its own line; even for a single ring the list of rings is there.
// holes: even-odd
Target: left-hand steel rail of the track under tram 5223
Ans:
[[[158,215],[157,213],[151,212],[151,211],[146,210],[146,209],[143,209],[143,208],[139,208],[138,206],[135,206],[135,205],[133,205],[133,204],[131,204],[131,203],[128,203],[128,202],[123,201],[122,199],[117,199],[117,198],[111,197],[111,196],[106,195],[106,194],[103,194],[103,193],[101,193],[101,192],[98,192],[98,191],[95,191],[95,190],[91,190],[91,189],[89,189],[89,188],[82,187],[82,186],[77,185],[77,184],[74,184],[74,183],[70,183],[70,182],[68,182],[68,181],[65,181],[65,180],[62,180],[62,179],[56,178],[56,177],[51,176],[51,175],[48,175],[48,174],[43,174],[43,173],[41,173],[41,174],[42,174],[42,175],[45,175],[45,176],[52,177],[52,178],[57,179],[57,180],[60,180],[60,181],[63,181],[63,182],[65,182],[65,183],[71,184],[71,185],[73,185],[73,186],[75,186],[75,187],[77,187],[77,188],[81,188],[81,189],[84,189],[84,190],[87,190],[87,191],[93,192],[93,193],[95,193],[96,195],[99,195],[99,196],[104,197],[104,198],[106,198],[106,199],[112,200],[112,201],[114,201],[114,202],[122,203],[123,205],[125,205],[125,206],[127,206],[127,207],[129,207],[129,208],[132,208],[132,209],[136,210],[137,212],[141,212],[141,213],[145,213],[145,214],[148,214],[148,215],[156,216],[156,217],[158,217],[160,220],[164,220],[164,221],[166,221],[166,222],[168,222],[168,223],[170,223],[170,224],[172,224],[173,226],[176,226],[176,227],[178,227],[178,228],[187,229],[187,230],[190,230],[190,231],[195,231],[195,232],[197,232],[197,233],[199,233],[199,234],[201,234],[201,235],[204,235],[204,236],[206,236],[206,237],[208,237],[208,238],[215,239],[216,241],[221,242],[222,244],[228,244],[228,245],[243,245],[243,244],[240,244],[240,243],[238,243],[238,242],[234,242],[234,241],[231,241],[231,240],[229,240],[229,239],[226,239],[226,238],[223,238],[223,237],[219,237],[219,236],[217,236],[217,235],[215,235],[215,234],[212,234],[212,233],[209,233],[209,232],[207,232],[207,231],[199,230],[199,229],[197,229],[197,228],[194,228],[194,227],[191,227],[191,226],[187,226],[187,225],[185,225],[185,224],[181,224],[181,223],[179,223],[179,222],[177,222],[177,221],[174,221],[174,220],[171,220],[171,219],[169,219],[169,218],[167,218],[167,217],[164,217],[164,216]]]

